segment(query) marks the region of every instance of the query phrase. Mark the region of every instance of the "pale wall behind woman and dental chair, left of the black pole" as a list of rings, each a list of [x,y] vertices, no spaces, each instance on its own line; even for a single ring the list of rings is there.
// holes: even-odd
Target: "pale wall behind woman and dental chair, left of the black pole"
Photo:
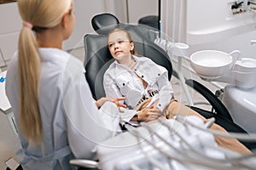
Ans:
[[[158,0],[74,0],[76,25],[72,36],[63,43],[63,48],[70,50],[83,47],[84,35],[93,32],[90,20],[95,14],[108,12],[115,14],[120,22],[127,23],[129,19],[130,23],[137,23],[145,15],[158,14],[157,3]],[[129,10],[128,13],[126,9]],[[1,67],[4,65],[3,59],[8,62],[17,49],[21,20],[16,3],[0,5],[0,16]]]

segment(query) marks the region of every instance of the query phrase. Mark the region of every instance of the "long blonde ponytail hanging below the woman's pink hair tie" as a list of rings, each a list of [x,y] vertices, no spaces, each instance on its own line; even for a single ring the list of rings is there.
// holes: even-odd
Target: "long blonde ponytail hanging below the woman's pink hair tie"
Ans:
[[[19,64],[20,78],[20,128],[27,139],[40,143],[43,139],[39,111],[40,57],[38,43],[28,27],[20,31]]]

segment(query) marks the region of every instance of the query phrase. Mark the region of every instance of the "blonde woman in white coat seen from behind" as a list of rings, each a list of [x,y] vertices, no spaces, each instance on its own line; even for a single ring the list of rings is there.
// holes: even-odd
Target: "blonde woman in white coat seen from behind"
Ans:
[[[115,116],[105,113],[118,108],[111,99],[92,98],[83,63],[61,49],[75,23],[73,0],[17,4],[23,26],[9,63],[6,94],[19,131],[20,165],[72,169],[70,159],[96,159],[96,144],[119,130]]]

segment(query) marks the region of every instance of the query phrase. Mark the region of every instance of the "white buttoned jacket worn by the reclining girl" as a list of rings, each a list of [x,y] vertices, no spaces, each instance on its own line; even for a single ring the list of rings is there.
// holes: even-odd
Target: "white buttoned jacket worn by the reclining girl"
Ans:
[[[156,65],[151,59],[132,55],[137,65],[134,71],[126,65],[120,65],[116,60],[109,66],[104,75],[104,89],[110,98],[125,97],[125,104],[135,108],[139,100],[144,96],[148,97],[148,90],[158,90],[159,94],[154,95],[154,99],[159,99],[158,107],[163,111],[170,103],[173,95],[172,84],[168,80],[166,68]],[[148,87],[143,88],[143,83]]]

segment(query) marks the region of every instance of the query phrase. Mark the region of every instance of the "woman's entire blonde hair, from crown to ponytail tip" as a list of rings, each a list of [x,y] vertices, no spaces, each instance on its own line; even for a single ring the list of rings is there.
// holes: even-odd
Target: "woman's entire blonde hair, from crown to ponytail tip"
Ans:
[[[57,26],[71,7],[73,0],[18,0],[20,17],[32,25],[33,31]],[[19,123],[22,133],[35,143],[43,140],[43,125],[39,108],[41,59],[38,42],[32,30],[23,26],[18,44]]]

